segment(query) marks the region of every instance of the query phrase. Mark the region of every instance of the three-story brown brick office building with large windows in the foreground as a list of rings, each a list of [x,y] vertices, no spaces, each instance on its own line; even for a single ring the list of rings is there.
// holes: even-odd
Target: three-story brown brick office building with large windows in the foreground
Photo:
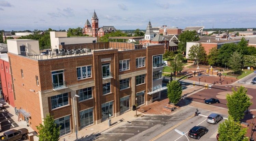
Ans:
[[[8,41],[8,48],[17,50],[10,50],[8,55],[15,106],[34,130],[50,113],[61,125],[60,135],[64,136],[74,131],[75,121],[79,130],[98,124],[108,119],[109,114],[119,116],[131,110],[136,103],[152,103],[166,89],[161,86],[162,44],[60,45],[64,49],[86,49],[71,55],[46,56],[31,53],[35,50],[30,46],[32,41],[26,42]],[[25,49],[24,44],[28,45]]]

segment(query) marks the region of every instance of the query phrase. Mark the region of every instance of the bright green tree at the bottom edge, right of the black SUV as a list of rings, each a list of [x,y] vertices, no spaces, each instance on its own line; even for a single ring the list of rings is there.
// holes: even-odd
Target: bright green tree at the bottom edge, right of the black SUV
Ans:
[[[239,122],[229,116],[227,120],[219,124],[218,133],[219,141],[248,141],[245,137],[247,128],[242,128]]]

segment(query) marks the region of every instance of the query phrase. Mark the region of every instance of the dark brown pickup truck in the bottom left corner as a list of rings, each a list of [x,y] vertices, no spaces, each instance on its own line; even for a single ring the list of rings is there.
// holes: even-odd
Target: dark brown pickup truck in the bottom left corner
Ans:
[[[27,140],[28,139],[28,129],[21,128],[18,130],[12,129],[3,133],[0,136],[0,141],[16,141],[16,140]]]

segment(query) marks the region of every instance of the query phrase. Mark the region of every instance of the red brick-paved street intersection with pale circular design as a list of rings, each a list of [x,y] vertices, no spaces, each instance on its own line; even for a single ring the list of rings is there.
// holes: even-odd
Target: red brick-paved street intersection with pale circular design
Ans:
[[[199,92],[197,92],[193,95],[188,96],[187,99],[192,100],[192,101],[196,101],[196,102],[200,102],[200,103],[204,103],[204,100],[207,100],[207,99],[210,99],[210,98],[215,98],[215,99],[218,99],[221,103],[215,103],[215,104],[211,104],[211,105],[227,108],[226,95],[227,95],[227,93],[231,94],[232,88],[235,88],[235,90],[236,90],[237,86],[213,85],[212,87],[215,87],[216,89],[215,88],[203,89],[203,90],[201,90],[201,91],[199,91]],[[253,102],[253,105],[249,109],[256,109],[255,108],[255,103],[256,103],[255,89],[252,89],[252,88],[246,88],[246,89],[247,89],[248,96],[251,98],[251,101]]]

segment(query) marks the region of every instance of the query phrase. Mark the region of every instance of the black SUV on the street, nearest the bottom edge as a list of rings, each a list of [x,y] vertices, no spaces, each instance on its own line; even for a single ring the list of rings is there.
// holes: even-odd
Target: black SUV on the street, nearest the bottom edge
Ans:
[[[188,136],[194,139],[200,139],[201,136],[207,133],[207,128],[203,126],[194,126],[188,131]]]

